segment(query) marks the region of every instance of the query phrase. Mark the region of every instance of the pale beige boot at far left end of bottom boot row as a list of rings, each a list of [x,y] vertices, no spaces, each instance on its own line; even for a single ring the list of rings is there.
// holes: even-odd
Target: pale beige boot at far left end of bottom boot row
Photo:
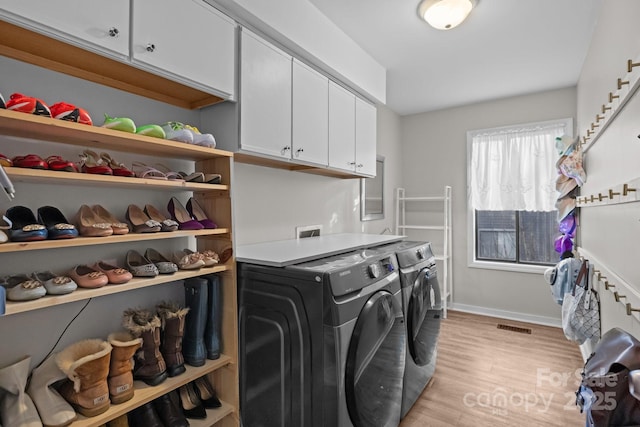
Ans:
[[[31,397],[25,393],[31,357],[0,369],[0,389],[6,391],[0,401],[0,420],[4,427],[42,427]]]

